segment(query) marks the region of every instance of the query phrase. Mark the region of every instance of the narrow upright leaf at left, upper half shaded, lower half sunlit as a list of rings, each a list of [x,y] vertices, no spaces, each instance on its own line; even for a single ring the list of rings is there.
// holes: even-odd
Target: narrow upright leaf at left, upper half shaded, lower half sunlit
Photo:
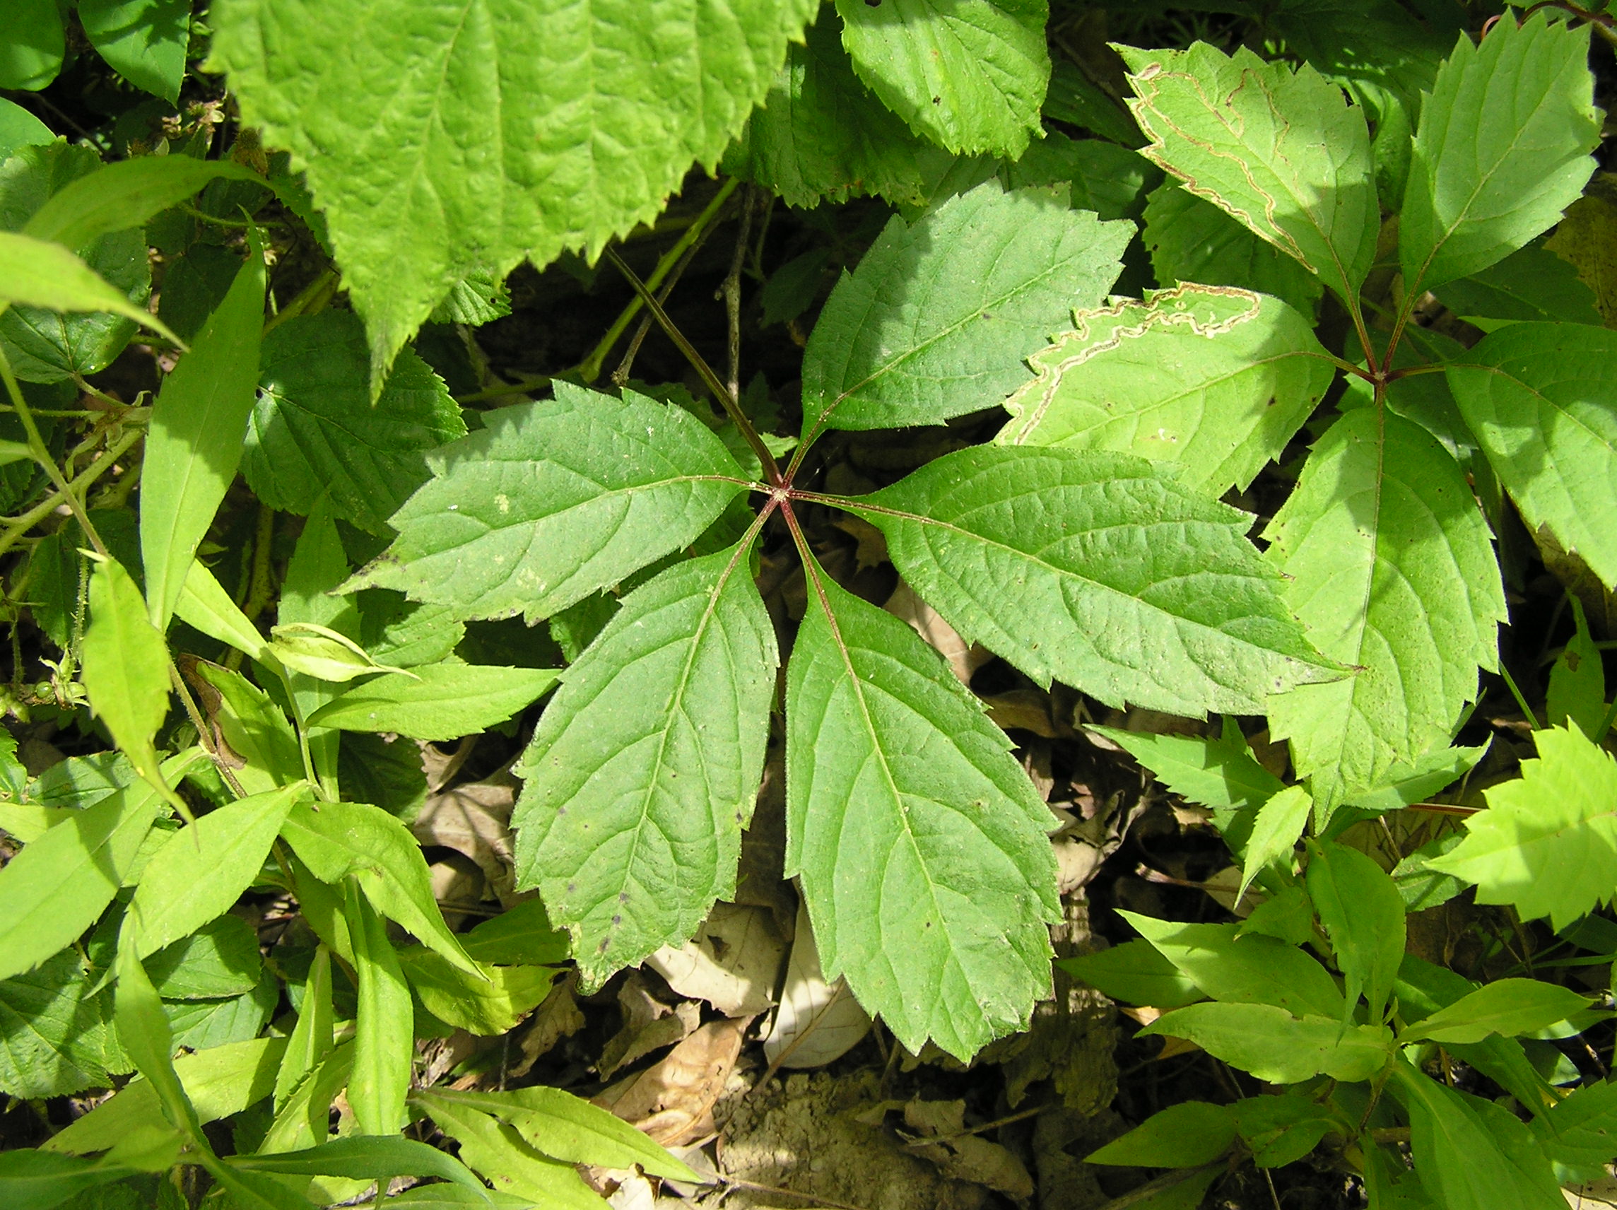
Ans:
[[[152,404],[141,474],[141,563],[158,632],[168,629],[197,544],[241,464],[264,330],[264,257],[254,249]]]

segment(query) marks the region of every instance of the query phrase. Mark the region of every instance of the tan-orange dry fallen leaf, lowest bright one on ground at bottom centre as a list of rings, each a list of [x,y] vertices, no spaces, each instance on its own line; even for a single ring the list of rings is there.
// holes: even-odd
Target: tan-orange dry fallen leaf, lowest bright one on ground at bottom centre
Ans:
[[[713,1103],[741,1056],[749,1024],[750,1018],[710,1021],[661,1063],[613,1084],[593,1103],[665,1147],[711,1134]]]

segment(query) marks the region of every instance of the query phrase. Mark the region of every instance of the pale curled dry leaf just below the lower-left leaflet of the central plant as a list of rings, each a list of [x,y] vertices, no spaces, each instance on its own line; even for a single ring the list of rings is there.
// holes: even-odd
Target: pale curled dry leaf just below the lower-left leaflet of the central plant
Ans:
[[[645,959],[682,996],[705,1000],[728,1018],[755,1016],[775,1003],[786,938],[762,908],[716,903],[697,935]]]

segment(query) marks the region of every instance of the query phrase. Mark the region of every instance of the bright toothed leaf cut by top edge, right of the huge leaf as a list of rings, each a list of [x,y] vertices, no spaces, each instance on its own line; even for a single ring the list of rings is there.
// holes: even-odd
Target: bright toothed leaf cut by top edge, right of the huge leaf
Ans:
[[[1046,0],[836,0],[854,71],[956,154],[1019,157],[1049,82]]]

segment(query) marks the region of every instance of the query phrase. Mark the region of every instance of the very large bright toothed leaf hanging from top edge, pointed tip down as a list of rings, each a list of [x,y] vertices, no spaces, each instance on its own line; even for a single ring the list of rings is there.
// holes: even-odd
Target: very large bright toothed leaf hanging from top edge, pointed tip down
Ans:
[[[209,23],[247,121],[293,150],[325,209],[375,395],[456,280],[593,259],[655,218],[692,160],[718,160],[813,11],[230,0]]]

